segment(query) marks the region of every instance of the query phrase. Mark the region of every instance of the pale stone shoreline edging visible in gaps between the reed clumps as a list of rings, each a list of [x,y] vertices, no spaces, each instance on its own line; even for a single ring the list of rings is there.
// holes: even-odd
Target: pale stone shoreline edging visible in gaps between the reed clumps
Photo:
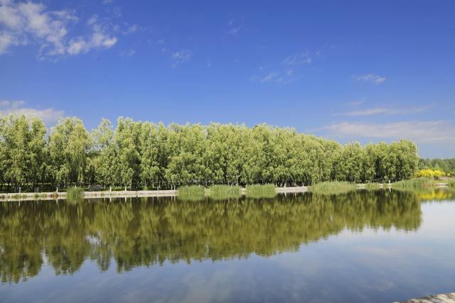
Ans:
[[[435,188],[448,187],[446,183],[438,183]],[[390,189],[392,184],[378,184],[378,189]],[[308,192],[309,187],[275,187],[277,194],[299,194]],[[357,184],[357,189],[365,189],[365,184]],[[209,189],[205,189],[205,195]],[[246,195],[246,189],[241,189],[241,194]],[[103,191],[103,192],[83,192],[83,199],[96,198],[140,198],[140,197],[176,197],[177,189],[166,190],[129,190],[129,191]],[[0,194],[0,202],[11,201],[40,201],[40,200],[64,200],[67,198],[66,192],[13,192]]]

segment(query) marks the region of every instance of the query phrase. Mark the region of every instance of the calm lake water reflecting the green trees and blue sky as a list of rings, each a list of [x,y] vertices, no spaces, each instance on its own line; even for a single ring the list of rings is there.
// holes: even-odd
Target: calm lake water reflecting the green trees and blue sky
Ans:
[[[0,302],[392,302],[455,291],[449,192],[0,203]]]

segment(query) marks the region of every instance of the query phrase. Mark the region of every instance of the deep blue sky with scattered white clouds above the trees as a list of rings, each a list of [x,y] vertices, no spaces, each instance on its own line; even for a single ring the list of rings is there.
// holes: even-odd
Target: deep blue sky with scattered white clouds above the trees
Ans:
[[[454,1],[0,0],[0,114],[269,123],[455,156]]]

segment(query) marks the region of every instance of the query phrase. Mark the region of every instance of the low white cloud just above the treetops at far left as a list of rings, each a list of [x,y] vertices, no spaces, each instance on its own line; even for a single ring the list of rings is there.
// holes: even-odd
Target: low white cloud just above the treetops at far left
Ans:
[[[45,123],[55,123],[60,117],[65,114],[64,111],[59,111],[56,109],[35,109],[31,107],[26,107],[26,102],[21,100],[9,101],[3,100],[0,101],[0,116],[7,116],[9,114],[24,114],[26,116],[37,116]]]

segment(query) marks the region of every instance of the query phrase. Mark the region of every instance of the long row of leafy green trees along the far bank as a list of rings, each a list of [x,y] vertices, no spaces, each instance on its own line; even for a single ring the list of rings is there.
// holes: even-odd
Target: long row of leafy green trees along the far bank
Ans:
[[[0,182],[14,189],[387,182],[413,177],[418,165],[412,141],[341,145],[265,123],[165,126],[120,117],[115,127],[102,119],[87,131],[74,117],[48,131],[36,117],[0,119]]]

